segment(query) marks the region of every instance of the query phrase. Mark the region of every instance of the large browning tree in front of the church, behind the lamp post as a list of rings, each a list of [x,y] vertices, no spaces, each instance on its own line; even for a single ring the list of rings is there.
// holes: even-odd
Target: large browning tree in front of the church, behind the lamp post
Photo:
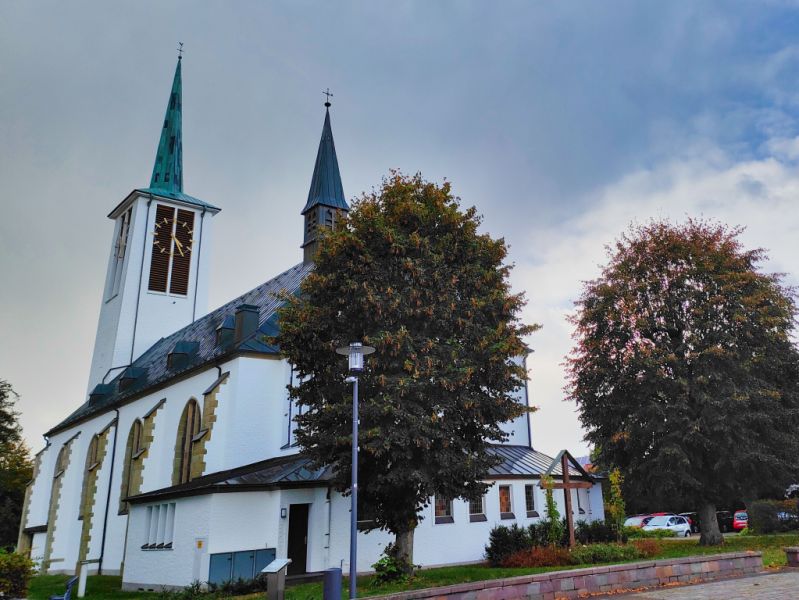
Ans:
[[[297,440],[345,493],[352,389],[334,350],[376,348],[360,381],[359,504],[409,563],[420,509],[434,495],[483,494],[487,445],[527,411],[513,394],[526,377],[522,338],[536,327],[519,322],[504,241],[479,224],[449,183],[392,173],[324,237],[280,312],[277,342],[301,382],[291,388],[304,407]]]

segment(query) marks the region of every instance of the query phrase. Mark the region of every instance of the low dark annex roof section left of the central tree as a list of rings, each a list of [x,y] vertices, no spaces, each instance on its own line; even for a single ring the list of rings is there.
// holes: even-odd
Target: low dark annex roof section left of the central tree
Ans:
[[[130,502],[148,502],[179,496],[197,496],[218,492],[246,492],[280,487],[302,487],[330,480],[329,467],[313,469],[311,461],[299,454],[262,460],[251,465],[219,471],[187,483],[146,492],[128,498]]]

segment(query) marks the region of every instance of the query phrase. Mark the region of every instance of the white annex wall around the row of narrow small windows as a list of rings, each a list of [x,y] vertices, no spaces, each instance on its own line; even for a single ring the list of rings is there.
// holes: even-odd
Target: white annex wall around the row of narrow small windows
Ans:
[[[146,542],[147,505],[131,507],[123,589],[159,589],[186,586],[194,580],[195,555],[199,572],[208,575],[208,551],[197,540],[209,539],[211,496],[181,498],[176,502],[172,548],[142,550]]]

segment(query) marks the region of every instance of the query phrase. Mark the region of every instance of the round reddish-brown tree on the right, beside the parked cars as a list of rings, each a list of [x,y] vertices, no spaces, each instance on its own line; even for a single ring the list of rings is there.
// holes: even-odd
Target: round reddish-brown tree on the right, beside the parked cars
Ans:
[[[577,301],[569,397],[625,489],[699,508],[777,493],[799,455],[796,306],[740,229],[688,220],[631,227]]]

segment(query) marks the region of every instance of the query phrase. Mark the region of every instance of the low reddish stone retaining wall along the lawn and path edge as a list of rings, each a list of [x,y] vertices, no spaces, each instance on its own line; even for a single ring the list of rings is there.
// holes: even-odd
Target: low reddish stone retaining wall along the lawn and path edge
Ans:
[[[557,600],[588,598],[602,593],[653,588],[675,583],[701,583],[763,570],[760,552],[731,552],[552,571],[507,579],[491,579],[382,596],[382,600]]]

